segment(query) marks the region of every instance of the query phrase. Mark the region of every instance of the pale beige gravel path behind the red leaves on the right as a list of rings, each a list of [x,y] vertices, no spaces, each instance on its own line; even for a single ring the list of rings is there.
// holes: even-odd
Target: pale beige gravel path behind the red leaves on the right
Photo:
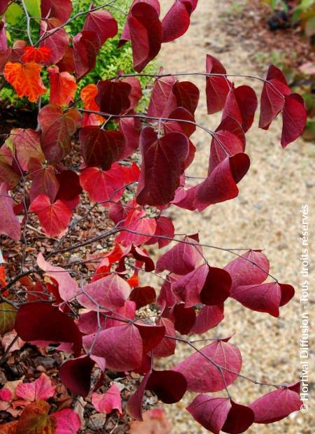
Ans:
[[[162,0],[163,8],[172,1]],[[251,41],[241,41],[238,29],[235,38],[225,34],[221,14],[235,8],[235,1],[200,0],[189,31],[174,43],[163,45],[159,57],[166,71],[204,71],[205,55],[218,57],[231,73],[254,74],[255,65],[248,55],[255,47]],[[267,68],[266,68],[267,69]],[[187,78],[189,79],[189,78]],[[204,80],[193,78],[204,94]],[[237,85],[248,83],[237,80]],[[250,83],[249,83],[250,84]],[[252,83],[260,89],[257,83]],[[197,111],[197,122],[214,129],[221,113],[207,116],[205,98]],[[243,356],[243,374],[260,381],[274,383],[295,382],[300,379],[300,253],[302,204],[314,207],[314,155],[313,145],[295,141],[283,151],[280,146],[281,120],[276,120],[268,132],[258,130],[258,116],[252,131],[247,134],[246,152],[251,158],[251,169],[239,184],[240,194],[232,201],[209,207],[202,214],[182,209],[172,209],[177,233],[200,232],[203,243],[230,248],[264,248],[271,264],[271,274],[279,281],[295,286],[295,300],[281,308],[276,319],[267,314],[251,312],[229,300],[225,319],[209,337],[226,337],[234,332],[232,342],[239,346]],[[189,174],[207,174],[209,137],[197,131],[193,136],[197,157]],[[232,260],[230,253],[210,250],[206,252],[211,265],[221,266]],[[314,269],[309,268],[309,282]],[[176,362],[190,353],[179,349]],[[174,360],[173,360],[174,361]],[[255,386],[239,379],[231,392],[239,402],[251,402],[258,395],[267,393],[266,386]],[[188,396],[185,404],[191,400]],[[194,423],[179,403],[167,407],[172,420],[172,434],[207,433]],[[254,425],[248,433],[310,434],[310,412],[295,413],[284,421],[269,426]]]

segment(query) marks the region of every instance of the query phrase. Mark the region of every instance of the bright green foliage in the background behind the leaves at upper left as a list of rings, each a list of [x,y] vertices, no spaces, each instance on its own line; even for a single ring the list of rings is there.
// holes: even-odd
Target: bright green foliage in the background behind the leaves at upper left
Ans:
[[[71,16],[80,12],[81,10],[86,10],[90,5],[91,0],[73,0],[73,13]],[[97,57],[96,67],[92,72],[87,74],[87,76],[83,77],[82,80],[78,83],[78,92],[87,84],[97,83],[98,80],[104,80],[106,78],[112,78],[116,75],[117,71],[122,70],[125,73],[133,73],[134,69],[132,66],[132,48],[130,43],[126,43],[119,50],[118,41],[120,39],[120,35],[123,32],[123,27],[125,25],[126,15],[128,10],[130,9],[130,5],[132,0],[117,0],[112,7],[109,7],[108,10],[111,12],[116,21],[118,22],[118,34],[114,37],[106,41],[106,43],[102,46],[102,49]],[[101,6],[104,4],[104,0],[94,0],[94,6]],[[19,15],[20,9],[20,15]],[[66,31],[69,34],[75,36],[79,31],[82,30],[84,25],[85,15],[80,15],[76,20],[73,20],[67,27]],[[10,42],[15,41],[16,39],[27,39],[25,31],[21,29],[25,29],[26,26],[23,25],[25,21],[25,15],[23,13],[20,5],[15,2],[12,3],[8,11],[6,12],[6,24],[7,24],[7,38]],[[34,36],[34,41],[38,39],[38,25],[32,26],[32,36]],[[144,73],[155,73],[156,68],[154,64],[148,64],[146,69],[144,69]],[[8,104],[14,104],[14,106],[20,106],[29,104],[27,99],[19,99],[12,87],[2,78],[3,83],[1,83],[0,87],[0,99],[2,101],[8,102]],[[147,85],[152,81],[149,77],[141,77],[141,85],[143,89],[147,87]],[[43,76],[43,81],[48,87],[48,80]],[[42,102],[46,104],[48,102],[49,93],[43,96]],[[148,103],[149,92],[144,90],[144,97],[140,102],[141,106],[146,106]]]

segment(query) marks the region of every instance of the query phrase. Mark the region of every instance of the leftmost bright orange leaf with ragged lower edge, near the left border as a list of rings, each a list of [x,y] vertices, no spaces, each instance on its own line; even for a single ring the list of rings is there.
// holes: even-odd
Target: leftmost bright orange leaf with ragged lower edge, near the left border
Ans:
[[[30,102],[36,102],[38,97],[46,92],[41,80],[41,65],[31,63],[11,63],[4,66],[4,78],[13,85],[20,98],[27,97]]]

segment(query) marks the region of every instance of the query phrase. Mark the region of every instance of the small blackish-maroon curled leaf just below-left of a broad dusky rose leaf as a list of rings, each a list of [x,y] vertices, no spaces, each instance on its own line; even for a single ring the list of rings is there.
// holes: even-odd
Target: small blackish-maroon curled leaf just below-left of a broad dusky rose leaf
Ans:
[[[87,396],[90,392],[94,360],[89,356],[66,360],[59,370],[59,376],[67,388],[76,395]]]

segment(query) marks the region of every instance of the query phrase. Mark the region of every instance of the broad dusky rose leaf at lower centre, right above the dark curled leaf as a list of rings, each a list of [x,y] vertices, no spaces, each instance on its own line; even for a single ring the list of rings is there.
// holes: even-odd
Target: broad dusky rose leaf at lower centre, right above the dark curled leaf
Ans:
[[[144,346],[136,325],[125,324],[102,330],[97,335],[83,337],[85,350],[92,346],[94,356],[104,357],[106,367],[130,371],[141,366]]]

